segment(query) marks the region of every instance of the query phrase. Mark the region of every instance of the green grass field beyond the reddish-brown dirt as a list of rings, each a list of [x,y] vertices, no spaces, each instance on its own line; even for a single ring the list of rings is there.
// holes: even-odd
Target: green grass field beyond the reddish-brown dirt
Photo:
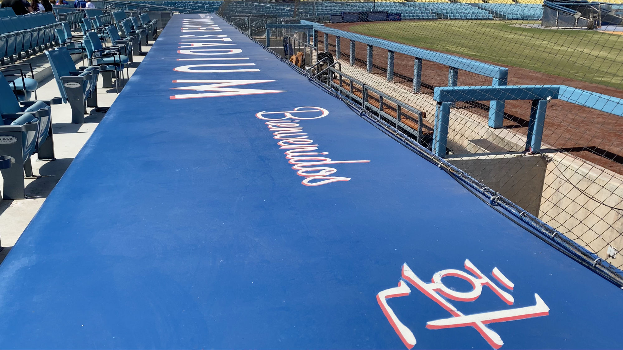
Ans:
[[[513,27],[526,21],[405,21],[350,31],[623,89],[623,35]]]

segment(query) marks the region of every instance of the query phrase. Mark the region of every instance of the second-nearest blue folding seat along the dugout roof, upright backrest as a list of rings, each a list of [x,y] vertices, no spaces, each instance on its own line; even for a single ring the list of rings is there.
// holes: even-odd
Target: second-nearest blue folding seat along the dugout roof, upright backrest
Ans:
[[[97,106],[97,67],[76,69],[69,50],[58,47],[45,52],[64,103],[72,108],[72,123],[84,123],[85,105]],[[99,108],[98,110],[101,110]]]

